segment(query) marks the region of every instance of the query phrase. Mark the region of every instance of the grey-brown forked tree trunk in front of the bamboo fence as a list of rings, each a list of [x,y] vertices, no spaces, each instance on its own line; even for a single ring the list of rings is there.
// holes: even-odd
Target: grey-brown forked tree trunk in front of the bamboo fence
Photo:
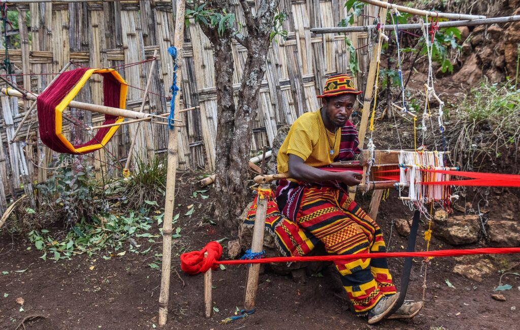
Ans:
[[[246,11],[248,57],[242,73],[238,93],[238,107],[233,101],[232,31],[218,34],[216,29],[203,31],[214,46],[213,59],[217,88],[218,126],[216,143],[216,201],[215,218],[230,231],[236,231],[239,215],[250,201],[247,184],[248,160],[254,119],[258,112],[258,91],[266,71],[269,34],[272,31],[276,8],[280,0],[266,0],[258,5],[256,16],[248,10],[249,3],[242,1]],[[218,3],[218,2],[215,2]],[[229,12],[229,8],[226,8]],[[232,202],[231,202],[232,201]]]

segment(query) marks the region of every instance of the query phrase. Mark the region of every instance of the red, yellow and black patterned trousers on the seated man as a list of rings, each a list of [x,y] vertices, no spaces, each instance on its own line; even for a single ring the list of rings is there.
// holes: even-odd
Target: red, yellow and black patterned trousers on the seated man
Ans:
[[[330,255],[386,252],[379,225],[339,189],[306,187],[296,221],[323,242]],[[358,315],[366,314],[384,295],[396,293],[384,258],[334,263]]]

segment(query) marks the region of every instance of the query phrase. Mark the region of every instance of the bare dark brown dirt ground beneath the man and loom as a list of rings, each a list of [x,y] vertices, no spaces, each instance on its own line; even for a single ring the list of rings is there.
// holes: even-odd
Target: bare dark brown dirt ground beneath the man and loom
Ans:
[[[178,202],[186,204],[190,194],[189,183],[179,185]],[[207,200],[211,202],[211,199]],[[389,251],[403,251],[407,238],[392,230],[391,222],[396,215],[411,218],[411,212],[395,201],[395,196],[391,196],[382,205],[378,222],[386,235],[385,241],[390,239]],[[219,324],[219,321],[232,316],[237,308],[242,308],[245,266],[228,266],[224,271],[214,272],[213,306],[218,312],[205,319],[203,276],[184,274],[178,256],[180,251],[200,249],[210,240],[235,237],[218,226],[207,224],[202,215],[183,216],[176,225],[180,225],[182,236],[174,239],[172,247],[169,319],[165,329],[518,328],[520,277],[505,275],[502,282],[511,284],[513,288],[501,292],[506,301],[496,301],[491,294],[497,293],[493,288],[498,285],[499,274],[486,278],[482,283],[467,280],[452,273],[453,258],[433,259],[427,272],[425,307],[413,320],[390,320],[369,326],[365,319],[348,311],[339,277],[328,265],[320,273],[306,276],[301,281],[306,283],[296,283],[290,275],[264,272],[259,279],[256,312],[245,319]],[[152,231],[157,232],[157,227]],[[421,238],[423,232],[424,228],[421,228],[417,250],[425,249]],[[145,238],[139,238],[138,243],[143,247],[151,245],[151,251],[146,255],[127,252],[111,260],[104,260],[100,255],[80,255],[71,261],[55,262],[40,259],[41,252],[34,248],[27,250],[30,243],[4,234],[0,237],[0,272],[5,274],[0,275],[0,328],[17,329],[24,318],[32,315],[44,318],[25,322],[27,329],[131,330],[158,327],[160,270],[152,269],[148,264],[157,259],[154,253],[162,253],[162,242],[150,244]],[[432,249],[443,248],[451,247],[433,238]],[[389,264],[399,286],[402,260],[393,259]],[[414,260],[407,299],[422,299],[421,265],[420,259]],[[518,271],[518,266],[510,271]],[[448,287],[446,280],[454,288]],[[19,297],[24,300],[23,311],[17,303]]]

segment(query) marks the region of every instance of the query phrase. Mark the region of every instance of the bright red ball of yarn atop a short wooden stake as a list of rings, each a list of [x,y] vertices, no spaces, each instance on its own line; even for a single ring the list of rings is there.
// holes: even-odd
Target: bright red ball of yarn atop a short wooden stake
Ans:
[[[204,253],[207,252],[207,257],[204,258]],[[197,275],[205,273],[212,268],[215,270],[217,265],[215,261],[222,256],[222,245],[213,241],[200,250],[186,252],[180,255],[180,269],[190,275]]]

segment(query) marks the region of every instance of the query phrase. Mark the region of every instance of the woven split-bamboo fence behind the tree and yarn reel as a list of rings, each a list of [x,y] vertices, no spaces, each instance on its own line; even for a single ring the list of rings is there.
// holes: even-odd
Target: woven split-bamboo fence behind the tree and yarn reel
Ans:
[[[259,113],[254,123],[251,150],[272,146],[280,125],[292,123],[307,111],[315,111],[326,77],[330,74],[348,72],[348,52],[342,34],[316,35],[311,29],[334,27],[346,16],[343,0],[281,0],[280,10],[288,19],[283,29],[288,31],[287,40],[277,37],[269,48],[267,72],[258,95]],[[245,24],[242,7],[232,0],[237,21]],[[254,1],[250,1],[254,7]],[[148,100],[143,109],[147,113],[167,112],[170,107],[173,72],[167,49],[173,43],[174,16],[171,1],[121,1],[121,2],[45,2],[8,4],[8,9],[18,11],[20,46],[9,48],[9,59],[14,65],[17,83],[26,90],[41,93],[57,73],[69,61],[88,67],[114,67],[149,60],[158,52],[157,69],[152,73]],[[379,9],[366,6],[366,16],[357,18],[356,25],[373,23],[371,17]],[[30,16],[28,16],[28,12]],[[30,17],[24,24],[26,17]],[[363,88],[370,60],[369,32],[348,35],[358,48],[359,66],[363,73],[357,77],[357,85]],[[2,38],[2,45],[3,45]],[[3,47],[3,46],[2,46]],[[198,106],[196,110],[180,113],[182,123],[178,130],[178,168],[204,169],[215,166],[215,139],[217,130],[216,88],[213,71],[212,47],[201,29],[192,22],[184,37],[184,66],[180,82],[181,108]],[[0,60],[5,49],[0,49]],[[233,44],[235,59],[235,90],[238,91],[246,49]],[[163,60],[164,59],[164,60]],[[145,89],[151,62],[125,67],[118,71],[131,86]],[[4,72],[2,72],[4,73]],[[35,75],[29,75],[34,73]],[[138,111],[144,92],[129,87],[127,108]],[[3,139],[0,152],[0,211],[6,206],[6,196],[21,193],[21,187],[47,179],[48,167],[53,153],[38,142],[36,111],[24,122],[17,139],[27,145],[9,143],[10,137],[24,116],[30,101],[16,101],[2,96],[2,120],[0,137]],[[92,77],[77,101],[102,104],[102,81]],[[5,109],[4,109],[5,105]],[[9,105],[9,106],[7,106]],[[79,109],[70,109],[72,117],[79,118],[89,126],[99,125],[102,115]],[[68,122],[64,127],[72,131],[70,139],[85,141],[89,132]],[[142,122],[136,136],[136,156],[146,160],[146,141],[152,141],[155,154],[167,149],[167,129],[163,125]],[[70,127],[69,127],[70,126]],[[114,173],[114,159],[123,162],[135,135],[137,124],[123,125],[107,144],[106,148],[92,154],[96,160],[96,173]],[[31,143],[31,144],[29,144]],[[35,145],[36,144],[36,145]],[[150,146],[149,146],[150,147]],[[54,155],[55,156],[55,155]],[[245,161],[245,160],[244,160]],[[34,166],[34,164],[40,167]],[[31,180],[32,178],[32,180]]]

